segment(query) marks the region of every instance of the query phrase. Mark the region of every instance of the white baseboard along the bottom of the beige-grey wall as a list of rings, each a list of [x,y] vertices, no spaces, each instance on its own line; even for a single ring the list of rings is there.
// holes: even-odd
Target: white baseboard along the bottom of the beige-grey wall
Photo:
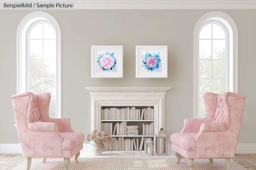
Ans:
[[[84,143],[80,152],[91,152],[91,144]],[[173,153],[172,144],[168,144],[168,152]],[[2,144],[0,143],[0,154],[22,154],[19,143]],[[237,144],[236,154],[256,154],[256,143],[253,144]]]

